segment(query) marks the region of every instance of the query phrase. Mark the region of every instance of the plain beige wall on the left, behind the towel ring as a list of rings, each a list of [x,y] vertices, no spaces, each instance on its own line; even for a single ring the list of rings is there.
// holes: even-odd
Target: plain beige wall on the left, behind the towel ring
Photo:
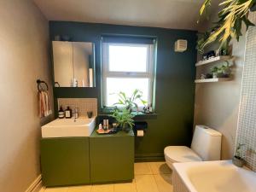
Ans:
[[[0,0],[1,192],[23,192],[40,174],[40,125],[49,118],[38,118],[36,79],[51,84],[48,31],[32,1]]]

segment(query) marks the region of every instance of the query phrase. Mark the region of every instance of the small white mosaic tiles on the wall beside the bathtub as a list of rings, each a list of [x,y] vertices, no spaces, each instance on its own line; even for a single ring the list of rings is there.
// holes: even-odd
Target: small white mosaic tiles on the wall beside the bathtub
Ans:
[[[256,24],[256,13],[250,14],[250,20]],[[256,150],[256,26],[247,31],[237,143],[246,144],[243,154],[247,166],[256,172],[256,154],[247,153],[248,149]]]

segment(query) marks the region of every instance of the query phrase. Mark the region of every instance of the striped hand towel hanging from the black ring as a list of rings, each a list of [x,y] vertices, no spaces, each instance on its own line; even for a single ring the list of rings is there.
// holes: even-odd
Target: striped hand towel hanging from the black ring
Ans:
[[[38,91],[39,117],[43,118],[52,113],[48,91]]]

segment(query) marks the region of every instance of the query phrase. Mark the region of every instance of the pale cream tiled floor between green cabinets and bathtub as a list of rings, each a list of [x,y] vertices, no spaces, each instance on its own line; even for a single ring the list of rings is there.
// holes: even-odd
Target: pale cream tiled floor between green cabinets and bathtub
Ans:
[[[43,188],[40,192],[172,192],[172,171],[165,162],[134,164],[135,179],[131,183]]]

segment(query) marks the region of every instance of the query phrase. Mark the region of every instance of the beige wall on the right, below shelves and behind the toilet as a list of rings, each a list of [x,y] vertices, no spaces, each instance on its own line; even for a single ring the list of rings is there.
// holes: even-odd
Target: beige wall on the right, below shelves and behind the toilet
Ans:
[[[244,32],[245,33],[245,32]],[[195,125],[208,125],[221,133],[222,159],[230,159],[234,153],[238,109],[241,95],[241,77],[244,63],[245,35],[239,43],[234,41],[232,55],[236,56],[230,82],[196,84],[195,86]],[[198,67],[197,76],[209,70],[212,65]]]

